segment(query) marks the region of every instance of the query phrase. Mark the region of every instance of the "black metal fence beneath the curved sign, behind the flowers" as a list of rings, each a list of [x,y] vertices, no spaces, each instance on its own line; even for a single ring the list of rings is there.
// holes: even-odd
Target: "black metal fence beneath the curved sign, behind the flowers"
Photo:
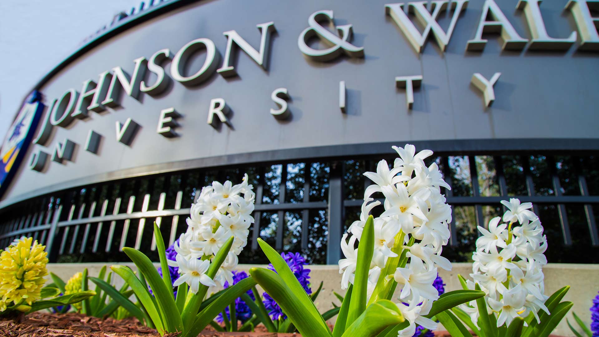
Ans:
[[[435,154],[437,155],[437,154]],[[389,154],[389,164],[394,156]],[[244,173],[256,192],[255,224],[240,263],[264,263],[256,239],[279,251],[298,251],[311,263],[337,263],[339,242],[358,219],[365,186],[377,157],[328,161],[259,163],[179,171],[55,192],[0,210],[0,246],[33,236],[51,261],[127,261],[123,246],[153,259],[153,221],[165,242],[186,229],[189,207],[213,180],[240,182]],[[452,237],[443,255],[468,261],[476,225],[504,212],[500,200],[518,197],[534,204],[549,241],[550,262],[599,263],[599,155],[563,153],[441,153],[430,158],[444,172],[453,207]],[[330,243],[330,244],[329,244]]]

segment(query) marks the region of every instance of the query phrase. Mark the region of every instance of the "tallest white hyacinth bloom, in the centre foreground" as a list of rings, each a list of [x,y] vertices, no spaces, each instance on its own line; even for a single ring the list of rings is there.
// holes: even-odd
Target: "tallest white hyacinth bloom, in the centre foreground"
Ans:
[[[410,322],[409,327],[398,333],[399,336],[412,336],[416,324],[428,329],[437,327],[434,321],[423,316],[428,314],[432,302],[438,299],[438,291],[432,285],[437,278],[437,267],[452,269],[449,260],[441,257],[442,248],[450,236],[451,206],[446,203],[440,187],[450,189],[450,186],[444,182],[437,164],[426,167],[423,160],[432,155],[432,151],[416,153],[415,146],[409,144],[404,148],[393,146],[393,149],[400,156],[394,160],[393,167],[381,160],[376,172],[364,173],[374,184],[364,191],[360,218],[347,230],[350,236],[344,234],[341,240],[345,258],[339,261],[339,272],[343,273],[341,288],[346,289],[355,278],[359,254],[355,247],[362,239],[364,225],[370,212],[382,204],[384,209],[373,223],[374,252],[367,294],[370,298],[381,278],[397,282],[397,288],[401,290],[397,306]],[[382,203],[371,197],[375,192],[382,192],[385,196]],[[397,258],[404,250],[407,259],[402,263],[405,264],[389,270],[389,275],[383,275],[382,270],[386,270],[389,258]],[[377,296],[380,298],[380,294]]]

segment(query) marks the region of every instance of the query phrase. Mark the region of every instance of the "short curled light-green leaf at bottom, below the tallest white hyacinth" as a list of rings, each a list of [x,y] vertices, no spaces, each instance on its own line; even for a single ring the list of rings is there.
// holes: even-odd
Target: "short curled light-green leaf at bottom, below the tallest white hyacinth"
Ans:
[[[362,233],[362,238],[364,233]],[[341,337],[376,336],[388,326],[404,321],[400,309],[390,300],[374,302],[350,325]]]

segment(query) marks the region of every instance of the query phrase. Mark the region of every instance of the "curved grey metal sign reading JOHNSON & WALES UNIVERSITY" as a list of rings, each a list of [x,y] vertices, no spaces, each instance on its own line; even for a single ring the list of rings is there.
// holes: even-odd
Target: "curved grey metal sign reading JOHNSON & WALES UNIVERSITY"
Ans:
[[[597,8],[171,1],[40,86],[48,107],[4,198],[256,151],[597,139]]]

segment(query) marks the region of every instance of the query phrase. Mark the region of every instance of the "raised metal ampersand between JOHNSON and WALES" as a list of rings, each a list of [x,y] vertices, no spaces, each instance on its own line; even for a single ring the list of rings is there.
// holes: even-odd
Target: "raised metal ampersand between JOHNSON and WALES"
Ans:
[[[364,47],[356,47],[349,43],[352,38],[352,25],[336,26],[335,28],[337,28],[341,35],[341,37],[338,37],[318,23],[319,21],[322,22],[324,20],[334,23],[333,11],[323,10],[312,13],[308,19],[308,25],[310,25],[310,27],[304,29],[304,31],[299,34],[298,47],[304,55],[316,61],[330,61],[337,58],[341,53],[346,53],[351,58],[364,57]],[[320,50],[308,47],[306,41],[314,36],[319,37],[320,40],[331,47]]]

